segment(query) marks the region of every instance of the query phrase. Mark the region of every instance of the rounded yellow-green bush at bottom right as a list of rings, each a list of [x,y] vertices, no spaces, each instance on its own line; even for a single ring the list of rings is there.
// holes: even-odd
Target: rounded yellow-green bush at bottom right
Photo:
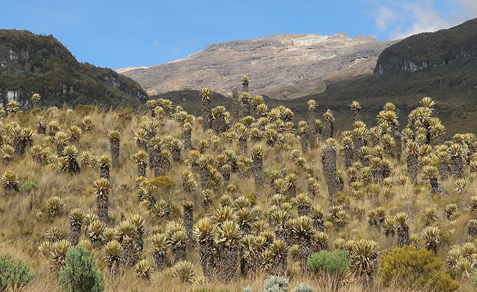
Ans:
[[[414,247],[393,248],[381,255],[380,271],[386,286],[439,292],[457,290],[459,284],[441,267],[442,261],[434,253]]]

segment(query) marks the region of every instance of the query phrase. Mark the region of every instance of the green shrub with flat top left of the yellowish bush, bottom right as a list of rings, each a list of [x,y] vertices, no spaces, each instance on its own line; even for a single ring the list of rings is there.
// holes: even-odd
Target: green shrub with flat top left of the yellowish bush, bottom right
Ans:
[[[308,257],[308,270],[316,275],[320,287],[323,291],[339,290],[341,282],[348,272],[349,252],[344,250],[334,250],[329,253],[321,251]]]

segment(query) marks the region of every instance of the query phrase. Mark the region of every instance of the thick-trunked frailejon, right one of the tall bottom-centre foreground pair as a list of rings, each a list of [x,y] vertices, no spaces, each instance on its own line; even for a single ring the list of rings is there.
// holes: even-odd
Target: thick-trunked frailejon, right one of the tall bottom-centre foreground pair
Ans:
[[[219,262],[216,273],[224,282],[231,282],[238,276],[238,249],[242,233],[235,221],[223,221],[219,228]]]

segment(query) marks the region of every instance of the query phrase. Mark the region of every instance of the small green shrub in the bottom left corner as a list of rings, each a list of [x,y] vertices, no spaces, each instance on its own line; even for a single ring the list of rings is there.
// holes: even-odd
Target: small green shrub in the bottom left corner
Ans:
[[[21,259],[17,259],[15,265],[8,255],[0,256],[0,291],[21,290],[33,278],[33,271]]]

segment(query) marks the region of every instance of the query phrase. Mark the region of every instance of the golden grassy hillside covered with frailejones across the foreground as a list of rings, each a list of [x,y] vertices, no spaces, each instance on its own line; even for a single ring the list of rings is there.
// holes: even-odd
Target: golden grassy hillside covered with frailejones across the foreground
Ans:
[[[169,95],[185,98],[172,108],[188,104]],[[337,291],[472,291],[475,136],[444,142],[431,129],[426,144],[427,132],[409,135],[412,160],[406,142],[398,147],[386,132],[355,139],[324,129],[313,147],[297,124],[278,128],[265,118],[248,129],[218,120],[204,130],[205,119],[157,105],[154,117],[94,107],[0,117],[0,256],[32,271],[2,291],[69,291],[64,279],[79,282],[94,265],[104,285],[88,291],[270,292],[264,283],[276,275],[287,283],[281,292],[311,291],[295,290],[300,282],[317,292],[318,253],[346,272]],[[425,123],[435,106],[421,108]],[[342,113],[333,116],[343,123]],[[392,116],[382,117],[392,125]],[[371,152],[354,155],[359,141]],[[71,269],[75,251],[92,265]],[[64,276],[68,269],[74,274]]]

